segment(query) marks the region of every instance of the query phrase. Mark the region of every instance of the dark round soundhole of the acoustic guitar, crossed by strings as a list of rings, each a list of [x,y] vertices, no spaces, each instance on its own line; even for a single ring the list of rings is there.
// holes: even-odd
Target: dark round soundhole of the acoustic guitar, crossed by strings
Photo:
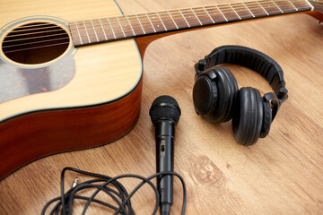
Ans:
[[[6,35],[4,55],[21,64],[42,64],[61,56],[69,45],[69,36],[61,27],[49,22],[33,22]]]

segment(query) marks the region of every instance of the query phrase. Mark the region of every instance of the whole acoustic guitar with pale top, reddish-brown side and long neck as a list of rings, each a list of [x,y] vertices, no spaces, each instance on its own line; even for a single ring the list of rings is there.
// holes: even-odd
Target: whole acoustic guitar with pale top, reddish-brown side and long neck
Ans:
[[[291,13],[322,1],[261,0],[123,15],[113,1],[4,0],[0,8],[0,178],[34,159],[113,142],[140,113],[154,39]]]

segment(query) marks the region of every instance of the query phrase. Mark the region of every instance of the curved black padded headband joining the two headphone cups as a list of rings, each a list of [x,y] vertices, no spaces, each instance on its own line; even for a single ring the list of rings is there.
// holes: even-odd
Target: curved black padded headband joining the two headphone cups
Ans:
[[[208,56],[195,64],[196,75],[218,64],[239,64],[261,74],[275,92],[281,105],[288,98],[284,73],[280,65],[270,56],[255,49],[240,46],[215,48]]]

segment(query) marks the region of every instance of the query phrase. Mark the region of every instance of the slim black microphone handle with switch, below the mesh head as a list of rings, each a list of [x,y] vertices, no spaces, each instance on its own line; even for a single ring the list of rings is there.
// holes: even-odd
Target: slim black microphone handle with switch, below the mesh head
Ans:
[[[155,123],[157,172],[174,170],[174,128],[175,124],[171,120]],[[172,176],[157,177],[157,188],[161,194],[161,214],[169,214],[173,202]]]

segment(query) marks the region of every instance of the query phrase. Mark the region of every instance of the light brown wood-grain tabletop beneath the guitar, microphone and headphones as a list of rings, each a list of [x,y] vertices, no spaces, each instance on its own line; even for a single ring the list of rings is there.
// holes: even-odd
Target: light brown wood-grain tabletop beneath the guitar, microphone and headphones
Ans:
[[[124,13],[140,13],[213,3],[119,0],[118,4]],[[193,108],[193,65],[223,45],[256,48],[284,69],[289,99],[269,135],[251,147],[234,142],[231,122],[205,122]],[[59,194],[60,173],[66,166],[109,176],[152,175],[155,142],[148,112],[153,99],[162,94],[177,99],[182,110],[176,127],[175,171],[187,183],[187,214],[321,214],[322,47],[323,27],[306,14],[190,31],[154,41],[144,55],[142,110],[135,128],[117,142],[39,159],[7,176],[0,181],[0,214],[39,214]],[[271,90],[257,73],[228,67],[240,87],[252,86],[261,93]],[[66,185],[72,184],[74,176],[67,175]],[[137,183],[122,182],[130,188]],[[153,196],[148,187],[135,195],[137,214],[153,211]],[[177,180],[174,200],[171,214],[179,214],[181,187]],[[104,214],[95,207],[89,212]]]

